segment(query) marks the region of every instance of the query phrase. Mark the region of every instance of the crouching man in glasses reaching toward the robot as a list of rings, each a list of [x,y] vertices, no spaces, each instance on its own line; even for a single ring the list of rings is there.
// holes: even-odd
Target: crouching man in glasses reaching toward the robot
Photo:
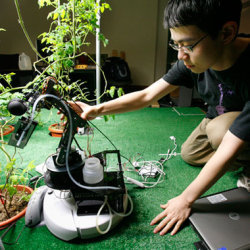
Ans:
[[[97,106],[78,103],[81,117],[94,119],[146,107],[179,85],[195,86],[208,103],[206,118],[182,147],[186,162],[204,167],[179,196],[161,205],[163,212],[151,222],[160,222],[154,233],[171,229],[174,235],[193,202],[226,171],[244,167],[246,174],[250,168],[250,39],[237,35],[240,13],[240,0],[170,0],[165,22],[170,45],[178,50],[172,69],[142,91]],[[240,184],[248,180],[243,176]]]

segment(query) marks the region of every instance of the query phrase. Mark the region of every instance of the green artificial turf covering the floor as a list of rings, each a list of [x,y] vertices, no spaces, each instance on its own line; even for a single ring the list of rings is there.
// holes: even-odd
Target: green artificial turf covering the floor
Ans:
[[[204,114],[199,108],[145,108],[140,111],[116,115],[115,120],[105,122],[104,119],[93,121],[95,126],[113,142],[121,154],[131,161],[159,160],[159,154],[166,154],[174,148],[170,136],[175,136],[177,149],[198,125]],[[38,126],[27,146],[19,150],[21,157],[18,163],[24,167],[30,161],[40,164],[58,146],[59,139],[48,134],[47,127],[59,120],[56,111],[43,111],[42,126]],[[113,145],[97,129],[91,143],[92,154],[114,149]],[[77,136],[79,144],[86,149],[87,137]],[[1,155],[1,161],[3,156]],[[112,161],[111,161],[112,162]],[[125,158],[122,162],[129,163]],[[200,168],[192,167],[183,162],[180,155],[174,156],[164,164],[165,180],[151,189],[140,189],[127,184],[128,193],[134,203],[133,213],[107,235],[91,240],[74,240],[64,242],[53,236],[46,226],[39,228],[23,228],[24,219],[18,221],[16,227],[4,238],[13,241],[21,232],[18,242],[6,245],[6,249],[195,249],[193,243],[199,240],[192,227],[185,223],[182,230],[175,236],[154,234],[150,221],[162,211],[160,204],[179,195],[197,176]],[[36,174],[35,171],[32,174]],[[124,172],[130,176],[131,173]],[[133,178],[140,177],[133,174]],[[3,179],[0,179],[3,183]],[[237,174],[227,173],[206,194],[216,193],[236,186]],[[63,219],[63,218],[62,218]],[[1,231],[0,234],[4,232]]]

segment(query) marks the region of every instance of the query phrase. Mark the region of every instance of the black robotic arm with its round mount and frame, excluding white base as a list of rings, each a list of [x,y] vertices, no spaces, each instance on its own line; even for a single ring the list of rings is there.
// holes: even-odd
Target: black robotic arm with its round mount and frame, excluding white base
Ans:
[[[77,133],[78,127],[88,128],[87,121],[83,120],[66,102],[55,94],[54,84],[56,80],[49,77],[43,92],[33,90],[24,100],[14,99],[8,104],[8,109],[13,115],[29,114],[27,117],[22,116],[15,126],[15,130],[9,140],[9,145],[23,148],[29,141],[37,122],[34,121],[34,115],[37,108],[50,109],[56,107],[63,113],[67,119],[63,136],[59,142],[55,155],[46,161],[47,171],[45,173],[46,184],[53,189],[70,189],[82,192],[82,189],[91,190],[92,192],[101,192],[107,194],[110,192],[124,192],[125,186],[123,182],[123,173],[121,167],[120,154],[118,150],[104,151],[96,154],[102,165],[105,165],[107,153],[116,153],[118,158],[119,171],[117,176],[106,178],[100,185],[88,186],[82,180],[82,170],[85,159],[75,148],[71,147],[74,135]],[[40,105],[40,106],[39,106]],[[32,108],[31,113],[29,110]],[[105,175],[106,176],[106,175]],[[108,180],[114,180],[110,182]],[[115,183],[115,184],[114,184]]]

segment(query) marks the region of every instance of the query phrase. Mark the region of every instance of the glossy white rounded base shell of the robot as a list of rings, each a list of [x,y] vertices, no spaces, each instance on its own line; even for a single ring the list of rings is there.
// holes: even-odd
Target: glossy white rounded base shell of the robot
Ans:
[[[62,197],[61,194],[64,194],[64,196]],[[124,195],[125,210],[127,202],[127,195]],[[77,215],[75,200],[70,192],[61,192],[52,189],[48,190],[45,194],[43,215],[45,224],[50,232],[64,241],[70,241],[78,237],[81,239],[98,237],[101,234],[97,230],[97,225],[101,231],[105,231],[109,227],[112,216],[111,230],[123,218],[117,214],[79,216]]]

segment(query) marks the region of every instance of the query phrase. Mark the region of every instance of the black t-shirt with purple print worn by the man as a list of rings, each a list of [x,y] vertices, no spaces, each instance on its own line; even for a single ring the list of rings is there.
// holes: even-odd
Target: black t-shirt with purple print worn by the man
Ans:
[[[242,111],[230,131],[245,141],[250,141],[250,45],[229,69],[208,69],[195,74],[183,61],[177,61],[163,79],[172,85],[196,87],[208,104],[207,117],[230,111]]]

